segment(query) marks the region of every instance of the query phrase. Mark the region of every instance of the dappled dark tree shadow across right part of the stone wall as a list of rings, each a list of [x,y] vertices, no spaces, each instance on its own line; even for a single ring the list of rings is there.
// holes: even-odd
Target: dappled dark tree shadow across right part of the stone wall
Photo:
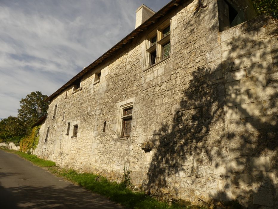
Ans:
[[[190,44],[183,47],[191,52],[200,47]],[[194,66],[182,67],[187,71],[183,98],[173,120],[153,133],[153,158],[143,188],[166,199],[202,202],[208,193],[221,202],[237,199],[246,207],[275,207],[277,78],[269,55],[277,59],[277,49],[270,51],[269,40],[256,39],[252,32],[224,47],[226,56],[214,67],[197,67],[196,56]]]

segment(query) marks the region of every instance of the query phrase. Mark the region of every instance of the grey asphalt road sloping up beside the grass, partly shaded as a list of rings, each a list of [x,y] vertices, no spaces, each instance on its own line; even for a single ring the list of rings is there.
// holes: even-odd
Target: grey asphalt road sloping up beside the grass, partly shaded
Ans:
[[[122,208],[0,150],[0,208]]]

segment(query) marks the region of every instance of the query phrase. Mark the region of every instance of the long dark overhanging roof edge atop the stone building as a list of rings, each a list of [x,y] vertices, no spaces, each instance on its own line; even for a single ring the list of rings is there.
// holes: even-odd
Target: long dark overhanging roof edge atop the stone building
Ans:
[[[179,2],[183,0],[172,0],[167,5],[165,5],[161,10],[159,10],[157,13],[155,13],[153,16],[151,16],[149,19],[147,19],[143,24],[141,24],[139,27],[137,27],[135,30],[133,30],[131,33],[129,33],[125,38],[123,38],[121,41],[119,41],[115,46],[113,46],[111,49],[109,49],[107,52],[105,52],[102,56],[100,56],[98,59],[96,59],[93,63],[85,67],[82,71],[77,73],[76,76],[74,76],[72,79],[70,79],[66,84],[64,84],[62,87],[60,87],[57,91],[55,91],[53,94],[51,94],[49,97],[47,97],[44,101],[49,102],[52,99],[54,99],[58,94],[63,92],[67,87],[71,86],[76,80],[82,78],[86,73],[93,70],[98,64],[102,63],[104,60],[106,60],[108,57],[110,57],[112,54],[114,54],[117,50],[124,47],[125,44],[129,43],[131,39],[138,36],[142,31],[145,31],[148,29],[148,26],[151,24],[156,23],[161,16],[164,16],[167,14],[172,7],[178,6]]]

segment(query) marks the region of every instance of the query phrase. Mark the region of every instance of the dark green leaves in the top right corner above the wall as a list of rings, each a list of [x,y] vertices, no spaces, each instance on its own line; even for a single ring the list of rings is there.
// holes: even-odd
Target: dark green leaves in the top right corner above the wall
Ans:
[[[277,0],[253,0],[254,8],[259,13],[265,13],[273,18],[278,19]]]

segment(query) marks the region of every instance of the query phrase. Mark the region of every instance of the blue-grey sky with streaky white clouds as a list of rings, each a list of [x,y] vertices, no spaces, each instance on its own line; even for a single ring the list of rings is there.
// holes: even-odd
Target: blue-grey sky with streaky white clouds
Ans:
[[[0,119],[32,91],[50,96],[170,0],[0,0]]]

